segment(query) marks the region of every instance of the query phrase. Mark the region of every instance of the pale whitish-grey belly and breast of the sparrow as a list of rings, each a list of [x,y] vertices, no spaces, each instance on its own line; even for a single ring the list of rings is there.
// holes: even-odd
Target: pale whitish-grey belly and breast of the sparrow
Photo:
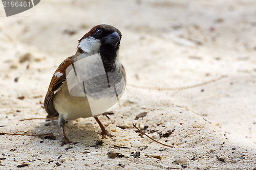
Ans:
[[[121,64],[118,62],[117,65]],[[97,116],[120,102],[125,91],[124,78],[119,76],[118,81],[111,85],[105,82],[108,79],[99,55],[80,59],[71,67],[69,74],[66,74],[67,80],[53,99],[55,109],[65,119]],[[92,81],[95,77],[96,81]],[[97,81],[99,84],[95,84]]]

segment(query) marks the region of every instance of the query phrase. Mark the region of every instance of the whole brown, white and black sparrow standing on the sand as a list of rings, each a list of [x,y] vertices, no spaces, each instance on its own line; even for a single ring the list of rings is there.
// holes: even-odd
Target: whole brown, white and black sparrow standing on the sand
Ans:
[[[126,74],[119,61],[121,32],[110,25],[98,25],[78,40],[75,55],[56,69],[45,96],[48,117],[58,116],[62,144],[72,142],[65,134],[67,120],[94,117],[101,135],[111,136],[98,115],[120,104],[126,86]]]

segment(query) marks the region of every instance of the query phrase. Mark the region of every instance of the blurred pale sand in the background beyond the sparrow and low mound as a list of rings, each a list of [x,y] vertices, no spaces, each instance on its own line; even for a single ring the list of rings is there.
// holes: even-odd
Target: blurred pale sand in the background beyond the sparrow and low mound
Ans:
[[[0,20],[2,113],[45,116],[41,102],[53,72],[84,34],[106,23],[122,32],[127,83],[180,87],[228,76],[180,91],[127,86],[128,100],[186,106],[231,142],[255,149],[255,1],[44,0],[11,17],[0,6]]]

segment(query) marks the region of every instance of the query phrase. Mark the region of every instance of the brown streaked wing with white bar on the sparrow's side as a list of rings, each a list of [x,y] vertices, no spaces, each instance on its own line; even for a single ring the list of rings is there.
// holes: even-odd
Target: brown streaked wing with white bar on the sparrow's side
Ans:
[[[53,96],[58,90],[60,90],[63,82],[66,81],[66,69],[73,62],[74,62],[74,56],[68,57],[59,65],[57,70],[54,72],[54,75],[49,85],[49,88],[45,97],[45,102],[44,102],[44,107],[50,117],[58,115],[58,112],[53,106]]]

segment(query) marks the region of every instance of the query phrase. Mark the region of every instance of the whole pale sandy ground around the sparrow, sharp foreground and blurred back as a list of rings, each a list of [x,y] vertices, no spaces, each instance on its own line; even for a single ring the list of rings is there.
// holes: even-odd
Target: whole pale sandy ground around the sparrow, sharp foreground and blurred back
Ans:
[[[185,169],[255,169],[254,1],[45,0],[12,17],[1,6],[0,16],[0,133],[57,137],[1,135],[1,169],[23,162],[29,165],[20,169],[171,169],[182,168],[182,159]],[[113,138],[90,147],[100,128],[80,118],[67,125],[79,143],[60,147],[56,120],[19,120],[46,117],[42,102],[53,72],[100,23],[123,34],[120,59],[130,84],[176,88],[227,77],[186,90],[127,86],[123,106],[99,117]],[[140,136],[133,123],[174,148]],[[109,151],[125,157],[111,159]]]

